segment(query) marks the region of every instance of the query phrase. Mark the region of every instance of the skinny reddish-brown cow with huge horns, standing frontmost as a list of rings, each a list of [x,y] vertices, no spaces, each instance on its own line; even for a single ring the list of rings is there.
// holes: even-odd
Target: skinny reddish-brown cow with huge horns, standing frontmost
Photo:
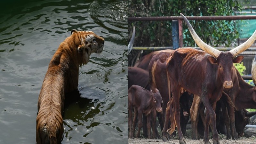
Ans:
[[[166,67],[168,82],[170,82],[172,95],[174,97],[174,117],[177,125],[180,144],[185,144],[183,134],[180,129],[179,98],[184,90],[200,96],[206,111],[204,143],[209,142],[209,124],[213,126],[213,144],[219,144],[219,136],[216,130],[216,114],[214,109],[216,101],[220,99],[224,88],[229,89],[233,86],[233,79],[236,73],[233,63],[242,61],[243,56],[237,56],[250,47],[256,39],[256,31],[244,44],[228,51],[220,52],[213,47],[205,44],[195,30],[192,28],[186,17],[180,14],[186,21],[189,31],[196,44],[204,51],[196,49],[177,49],[167,59]],[[207,53],[206,53],[207,52]],[[209,55],[209,54],[211,55]],[[237,56],[237,57],[236,57]],[[171,94],[169,93],[169,98]],[[171,108],[172,109],[172,108]],[[172,114],[172,110],[170,110]],[[211,119],[210,119],[211,118]],[[175,129],[174,121],[171,125],[171,133]]]

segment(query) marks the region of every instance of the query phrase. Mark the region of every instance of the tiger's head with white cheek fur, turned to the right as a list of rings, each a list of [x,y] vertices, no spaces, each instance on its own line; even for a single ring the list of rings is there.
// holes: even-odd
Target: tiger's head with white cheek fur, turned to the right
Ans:
[[[97,36],[92,31],[72,30],[71,35],[76,35],[79,40],[77,47],[78,55],[81,56],[79,65],[87,64],[92,53],[101,53],[103,51],[104,39]]]

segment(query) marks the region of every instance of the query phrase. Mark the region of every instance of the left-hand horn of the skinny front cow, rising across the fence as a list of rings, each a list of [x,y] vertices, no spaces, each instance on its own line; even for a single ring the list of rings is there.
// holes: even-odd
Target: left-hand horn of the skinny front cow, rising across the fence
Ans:
[[[183,17],[183,19],[185,20],[185,22],[188,25],[188,29],[190,31],[191,36],[193,37],[194,41],[196,42],[196,44],[205,52],[209,53],[210,55],[214,56],[216,59],[217,57],[220,55],[220,51],[211,47],[208,44],[205,44],[200,37],[196,34],[195,30],[192,28],[191,24],[189,23],[188,19],[182,14],[180,13],[180,15]]]

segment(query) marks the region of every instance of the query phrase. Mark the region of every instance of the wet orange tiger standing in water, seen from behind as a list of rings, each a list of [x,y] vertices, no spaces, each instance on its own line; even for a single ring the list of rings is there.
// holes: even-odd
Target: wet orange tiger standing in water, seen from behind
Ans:
[[[104,39],[92,31],[72,30],[52,56],[38,97],[36,143],[62,141],[65,93],[77,89],[79,67],[92,53],[102,53]]]

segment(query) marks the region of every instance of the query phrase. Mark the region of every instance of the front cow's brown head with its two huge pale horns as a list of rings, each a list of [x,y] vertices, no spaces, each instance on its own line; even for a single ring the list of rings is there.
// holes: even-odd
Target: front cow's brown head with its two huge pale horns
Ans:
[[[213,47],[211,47],[208,44],[205,44],[200,37],[196,34],[195,30],[192,28],[191,24],[188,22],[188,19],[180,13],[180,15],[183,17],[185,22],[188,25],[188,29],[191,33],[191,36],[195,40],[196,44],[205,52],[209,53],[210,56],[208,60],[212,64],[218,65],[217,75],[220,78],[220,81],[224,88],[231,88],[233,87],[232,83],[232,72],[234,72],[232,69],[234,69],[233,63],[239,63],[243,60],[243,56],[237,56],[241,52],[245,51],[247,48],[249,48],[256,39],[256,30],[252,34],[252,36],[244,42],[244,44],[241,44],[237,46],[236,48],[228,51],[228,52],[221,52]],[[237,57],[236,57],[237,56]]]

